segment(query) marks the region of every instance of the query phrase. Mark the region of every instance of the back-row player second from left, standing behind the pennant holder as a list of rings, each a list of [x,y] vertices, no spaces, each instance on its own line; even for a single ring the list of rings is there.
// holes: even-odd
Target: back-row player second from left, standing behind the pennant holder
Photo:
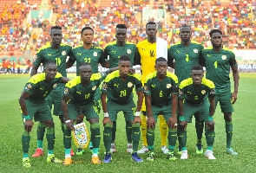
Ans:
[[[81,30],[81,40],[82,45],[76,48],[73,48],[72,52],[74,56],[69,57],[69,61],[67,62],[67,67],[72,67],[76,61],[76,75],[79,75],[79,67],[82,63],[87,62],[92,67],[92,73],[98,73],[99,63],[102,67],[108,67],[108,62],[104,59],[103,50],[100,47],[96,47],[93,44],[94,41],[94,30],[90,27],[84,27]],[[98,105],[99,112],[101,112],[101,91],[100,88],[97,87],[95,91],[95,99]],[[76,124],[82,123],[84,115],[77,116]],[[93,149],[93,144],[90,142],[89,149]],[[76,155],[82,155],[84,151],[82,149],[78,149],[76,151]]]

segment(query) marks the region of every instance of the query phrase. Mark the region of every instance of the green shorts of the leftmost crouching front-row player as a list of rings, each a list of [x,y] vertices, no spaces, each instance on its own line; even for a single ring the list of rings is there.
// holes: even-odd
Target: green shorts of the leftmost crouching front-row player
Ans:
[[[52,120],[52,115],[46,100],[43,100],[40,103],[33,103],[30,100],[26,100],[26,106],[30,115],[30,119],[34,119],[35,121]],[[24,119],[23,112],[22,118]]]

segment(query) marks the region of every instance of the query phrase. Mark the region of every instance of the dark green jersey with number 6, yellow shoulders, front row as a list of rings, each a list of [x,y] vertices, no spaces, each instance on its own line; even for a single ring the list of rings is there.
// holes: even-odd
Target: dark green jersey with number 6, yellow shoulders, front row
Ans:
[[[151,95],[152,106],[168,106],[172,103],[172,93],[178,94],[179,84],[175,74],[167,72],[164,80],[156,77],[156,71],[148,74],[145,80],[144,93]]]

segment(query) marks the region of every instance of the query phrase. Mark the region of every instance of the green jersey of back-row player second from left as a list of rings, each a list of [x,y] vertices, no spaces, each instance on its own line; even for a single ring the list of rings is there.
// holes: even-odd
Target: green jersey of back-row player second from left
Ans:
[[[79,75],[78,68],[82,62],[87,62],[92,67],[92,73],[96,74],[99,72],[99,63],[104,64],[104,54],[103,50],[100,47],[92,46],[89,49],[83,48],[79,46],[77,48],[73,48],[72,50],[74,57],[69,57],[69,61],[76,61],[76,75]]]

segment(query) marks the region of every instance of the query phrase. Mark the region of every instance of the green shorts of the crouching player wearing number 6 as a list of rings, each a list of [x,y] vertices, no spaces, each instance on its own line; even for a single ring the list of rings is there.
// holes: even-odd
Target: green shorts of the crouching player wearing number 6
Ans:
[[[152,115],[154,118],[154,121],[157,122],[158,116],[163,115],[164,119],[166,122],[170,119],[172,116],[172,105],[169,106],[151,106],[152,109]],[[147,113],[147,112],[146,112]],[[147,114],[148,116],[148,114]]]

